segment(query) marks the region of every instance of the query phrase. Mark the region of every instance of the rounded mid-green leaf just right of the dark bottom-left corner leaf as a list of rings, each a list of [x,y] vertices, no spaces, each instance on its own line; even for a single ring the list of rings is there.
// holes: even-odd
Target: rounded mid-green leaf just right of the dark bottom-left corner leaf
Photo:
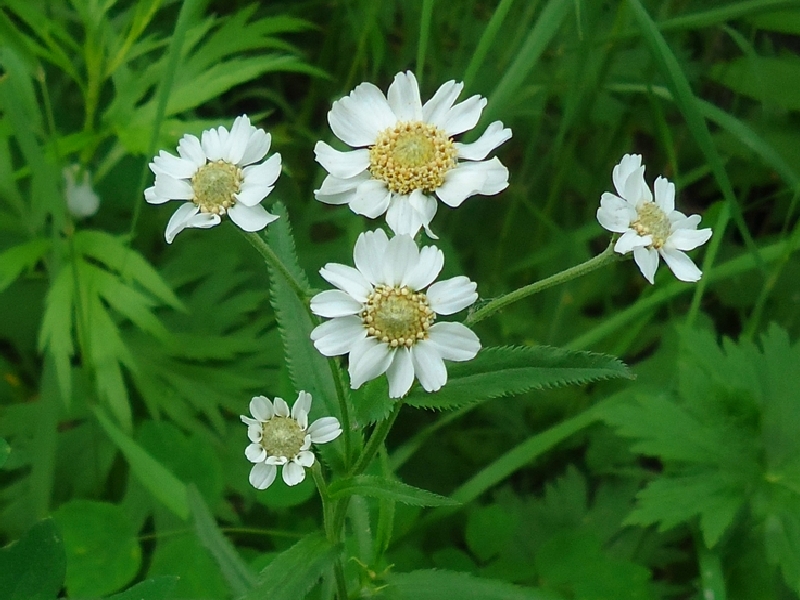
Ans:
[[[129,583],[142,552],[127,514],[115,504],[70,500],[53,514],[67,552],[70,596],[101,596]]]

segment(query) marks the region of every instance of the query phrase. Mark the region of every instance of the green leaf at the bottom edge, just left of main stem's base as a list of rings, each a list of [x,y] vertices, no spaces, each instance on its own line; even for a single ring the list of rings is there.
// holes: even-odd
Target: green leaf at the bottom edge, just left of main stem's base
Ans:
[[[338,555],[335,546],[318,533],[307,535],[281,552],[258,576],[258,584],[245,600],[298,600],[305,598],[329,572]]]

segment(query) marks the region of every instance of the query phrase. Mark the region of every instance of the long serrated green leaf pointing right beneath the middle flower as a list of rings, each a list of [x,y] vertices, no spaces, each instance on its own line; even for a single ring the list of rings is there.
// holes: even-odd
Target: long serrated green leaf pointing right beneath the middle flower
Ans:
[[[473,360],[448,365],[448,382],[438,392],[412,390],[407,404],[457,408],[490,398],[513,396],[600,379],[633,379],[618,359],[550,346],[485,348]]]

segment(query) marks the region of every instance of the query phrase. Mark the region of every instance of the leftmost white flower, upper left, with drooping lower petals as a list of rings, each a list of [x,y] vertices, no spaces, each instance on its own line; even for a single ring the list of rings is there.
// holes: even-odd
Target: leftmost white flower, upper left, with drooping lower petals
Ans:
[[[200,139],[184,135],[178,143],[179,156],[159,152],[150,163],[156,181],[144,191],[145,200],[186,201],[167,223],[167,243],[187,227],[208,229],[219,224],[222,215],[245,231],[260,231],[277,219],[261,206],[281,172],[280,154],[259,163],[270,142],[270,134],[253,127],[243,115],[234,120],[230,132],[218,127],[204,131]]]

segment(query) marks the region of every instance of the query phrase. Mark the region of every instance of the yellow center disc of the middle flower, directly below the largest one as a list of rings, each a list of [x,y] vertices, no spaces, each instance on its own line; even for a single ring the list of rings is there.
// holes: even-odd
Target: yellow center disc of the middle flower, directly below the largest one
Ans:
[[[435,318],[425,294],[414,293],[405,286],[377,286],[361,312],[367,333],[392,348],[410,348],[417,340],[428,337]]]

